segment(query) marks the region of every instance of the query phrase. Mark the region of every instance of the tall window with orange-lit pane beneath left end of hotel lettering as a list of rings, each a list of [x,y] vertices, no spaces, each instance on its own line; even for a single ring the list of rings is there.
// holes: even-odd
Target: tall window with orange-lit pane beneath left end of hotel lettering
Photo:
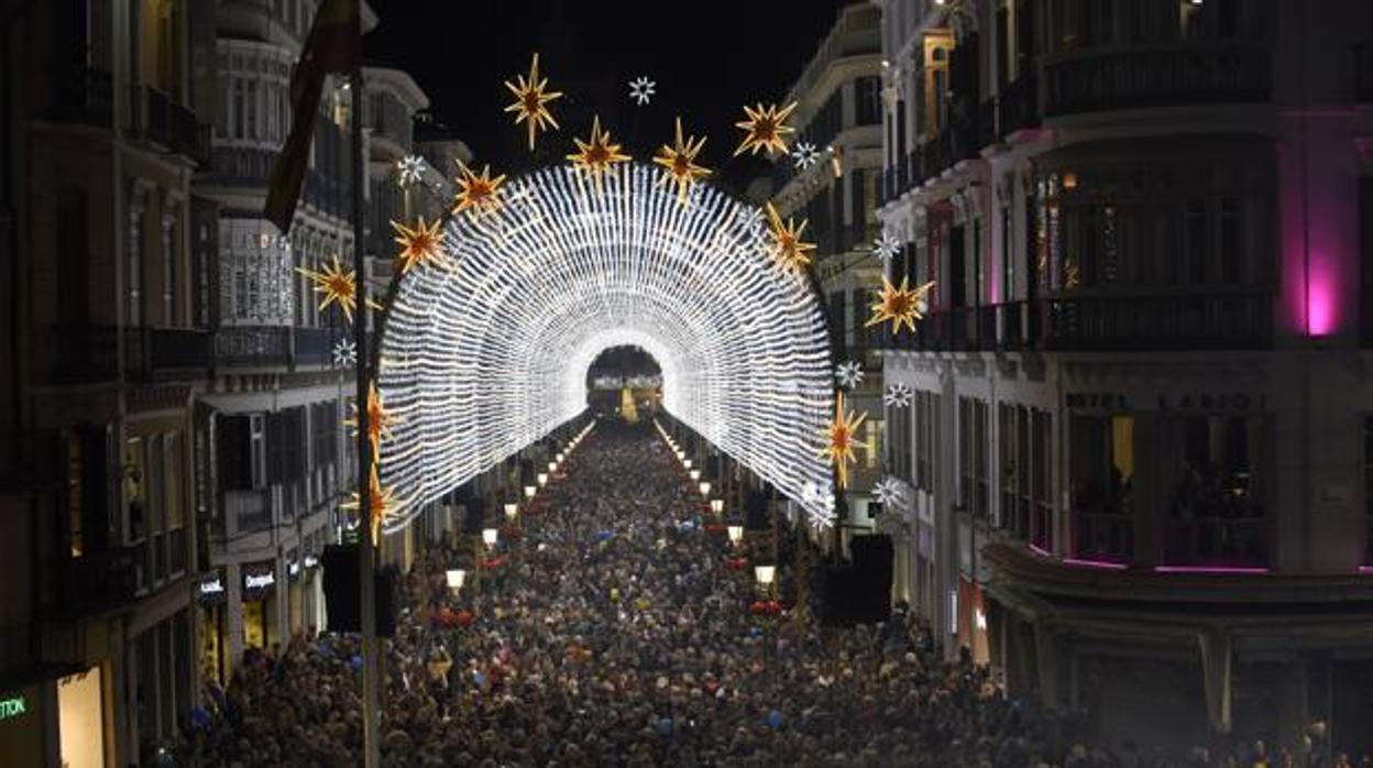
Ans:
[[[1134,554],[1134,416],[1072,416],[1072,552],[1127,562]]]

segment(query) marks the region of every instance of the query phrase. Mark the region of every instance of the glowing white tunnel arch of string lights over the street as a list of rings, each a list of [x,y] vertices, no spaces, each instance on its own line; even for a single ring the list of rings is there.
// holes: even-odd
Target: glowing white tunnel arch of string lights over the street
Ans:
[[[600,192],[549,168],[504,195],[498,214],[454,217],[449,267],[412,269],[393,297],[387,532],[585,411],[586,371],[618,345],[658,360],[670,414],[828,521],[825,320],[773,264],[762,213],[703,185],[680,203],[644,165]]]

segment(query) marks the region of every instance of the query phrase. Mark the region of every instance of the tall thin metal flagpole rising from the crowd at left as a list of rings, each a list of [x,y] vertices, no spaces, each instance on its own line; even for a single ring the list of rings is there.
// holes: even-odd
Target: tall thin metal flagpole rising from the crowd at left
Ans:
[[[356,279],[357,324],[353,327],[357,343],[357,518],[358,572],[362,607],[362,765],[379,768],[382,753],[380,694],[382,668],[376,637],[376,543],[372,541],[372,444],[368,438],[367,394],[372,353],[367,334],[367,258],[362,225],[362,179],[367,170],[362,158],[362,69],[353,70],[353,271]]]

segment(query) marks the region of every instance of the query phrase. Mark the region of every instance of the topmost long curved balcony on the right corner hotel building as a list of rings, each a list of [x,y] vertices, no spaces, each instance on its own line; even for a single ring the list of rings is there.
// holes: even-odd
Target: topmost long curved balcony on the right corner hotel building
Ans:
[[[1045,77],[1049,115],[1266,102],[1271,92],[1270,55],[1258,45],[1092,49],[1049,62]]]

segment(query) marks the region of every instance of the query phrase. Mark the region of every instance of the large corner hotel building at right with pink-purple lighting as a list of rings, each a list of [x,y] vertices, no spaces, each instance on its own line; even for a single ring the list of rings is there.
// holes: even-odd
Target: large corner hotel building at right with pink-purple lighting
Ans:
[[[1373,10],[876,4],[917,609],[1100,735],[1368,749]]]

